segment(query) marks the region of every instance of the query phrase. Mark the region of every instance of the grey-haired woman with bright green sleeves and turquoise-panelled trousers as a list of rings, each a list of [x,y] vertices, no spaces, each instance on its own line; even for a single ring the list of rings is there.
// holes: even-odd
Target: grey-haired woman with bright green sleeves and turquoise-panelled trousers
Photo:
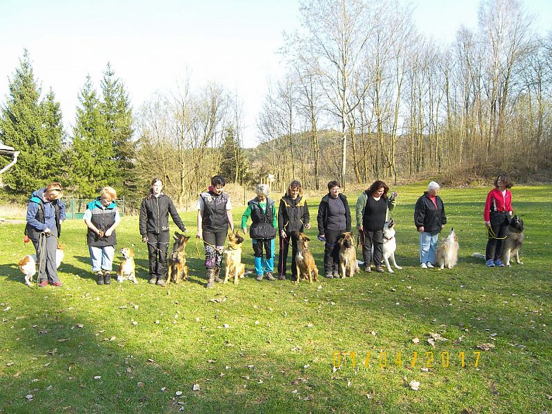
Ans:
[[[274,238],[276,237],[276,210],[274,200],[270,199],[270,188],[267,184],[259,184],[255,188],[257,197],[250,200],[242,215],[242,231],[246,234],[247,220],[251,217],[249,235],[253,242],[255,256],[255,273],[257,281],[261,282],[266,276],[268,280],[275,280],[274,272]],[[263,248],[265,259],[263,262]]]

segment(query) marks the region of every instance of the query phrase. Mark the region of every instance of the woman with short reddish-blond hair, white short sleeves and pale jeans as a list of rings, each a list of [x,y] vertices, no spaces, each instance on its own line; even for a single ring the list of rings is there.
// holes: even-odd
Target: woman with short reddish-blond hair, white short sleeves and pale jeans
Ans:
[[[84,222],[88,226],[86,244],[90,252],[92,272],[97,275],[97,284],[111,283],[111,270],[117,244],[115,228],[121,222],[115,199],[117,199],[117,191],[112,187],[104,187],[99,197],[88,203],[88,208],[84,212]]]

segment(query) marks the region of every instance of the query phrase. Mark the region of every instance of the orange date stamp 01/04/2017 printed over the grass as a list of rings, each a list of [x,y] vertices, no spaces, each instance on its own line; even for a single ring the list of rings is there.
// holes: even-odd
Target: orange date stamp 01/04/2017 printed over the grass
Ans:
[[[344,357],[344,362],[350,359],[350,363],[352,364],[353,368],[356,368],[357,362],[360,362],[364,365],[364,368],[368,368],[368,366],[371,365],[371,362],[373,364],[377,363],[377,366],[380,366],[380,368],[385,368],[388,365],[395,364],[396,366],[402,366],[403,364],[403,358],[404,362],[410,363],[410,366],[414,367],[416,364],[420,366],[424,366],[425,368],[432,368],[436,365],[441,365],[443,368],[449,368],[449,366],[460,366],[461,368],[464,368],[465,366],[473,366],[474,368],[477,368],[477,365],[479,365],[481,352],[480,351],[473,351],[473,357],[470,358],[469,355],[466,355],[464,351],[460,351],[457,354],[451,354],[448,351],[443,351],[440,353],[440,361],[439,355],[437,353],[437,360],[435,360],[435,355],[432,351],[428,351],[425,353],[420,353],[418,355],[417,352],[413,352],[411,355],[403,355],[402,353],[398,352],[397,355],[393,357],[393,355],[387,353],[387,351],[380,351],[379,355],[377,353],[372,354],[371,351],[368,351],[366,354],[363,353],[357,353],[355,351],[350,352],[339,352],[335,351],[333,353],[333,366],[334,368],[338,368],[339,366],[342,366],[342,356]],[[359,359],[357,361],[357,359]],[[371,359],[375,359],[375,361],[371,361]],[[470,364],[471,362],[471,364]]]

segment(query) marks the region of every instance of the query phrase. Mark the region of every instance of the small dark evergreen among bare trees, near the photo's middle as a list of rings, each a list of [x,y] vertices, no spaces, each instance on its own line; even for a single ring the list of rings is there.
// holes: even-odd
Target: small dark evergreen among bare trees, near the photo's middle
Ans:
[[[244,149],[239,145],[233,126],[226,128],[221,153],[220,173],[226,181],[242,184],[250,181],[249,161],[244,154]]]

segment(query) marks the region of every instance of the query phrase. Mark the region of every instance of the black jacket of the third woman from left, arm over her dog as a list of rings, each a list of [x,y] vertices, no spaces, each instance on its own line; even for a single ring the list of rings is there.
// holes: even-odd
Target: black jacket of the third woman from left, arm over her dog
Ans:
[[[161,194],[159,197],[152,195],[149,199],[148,197],[143,199],[140,206],[140,234],[142,237],[146,233],[168,232],[168,213],[177,227],[183,232],[186,231],[186,227],[169,197]]]

